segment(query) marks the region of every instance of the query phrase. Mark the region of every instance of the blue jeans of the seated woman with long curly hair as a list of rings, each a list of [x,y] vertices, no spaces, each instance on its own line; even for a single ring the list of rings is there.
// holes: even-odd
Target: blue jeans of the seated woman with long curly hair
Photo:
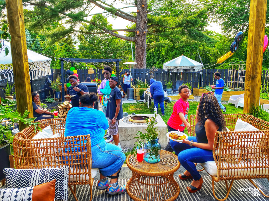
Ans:
[[[197,142],[196,137],[188,137],[188,140]],[[189,144],[179,143],[170,140],[170,145],[178,156],[178,161],[192,175],[194,180],[199,180],[201,175],[196,169],[194,163],[204,163],[214,161],[212,150],[190,147]]]

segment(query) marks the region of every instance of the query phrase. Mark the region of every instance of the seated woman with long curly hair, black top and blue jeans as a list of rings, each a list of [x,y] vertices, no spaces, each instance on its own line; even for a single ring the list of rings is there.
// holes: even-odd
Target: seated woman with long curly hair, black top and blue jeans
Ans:
[[[179,178],[181,180],[193,178],[187,187],[189,192],[194,193],[202,188],[203,178],[194,163],[214,161],[212,150],[215,133],[221,131],[225,125],[225,117],[217,98],[212,92],[204,93],[196,110],[196,136],[183,139],[183,143],[170,141],[180,164],[186,169],[184,173],[179,174]]]

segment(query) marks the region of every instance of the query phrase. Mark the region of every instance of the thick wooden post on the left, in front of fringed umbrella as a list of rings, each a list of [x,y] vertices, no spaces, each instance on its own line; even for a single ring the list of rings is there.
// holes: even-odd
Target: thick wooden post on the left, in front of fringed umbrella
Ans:
[[[9,21],[9,33],[11,35],[10,46],[17,108],[20,114],[24,114],[25,110],[30,111],[31,113],[28,117],[33,118],[22,0],[6,0],[6,10]],[[20,123],[19,127],[21,131],[27,125]]]

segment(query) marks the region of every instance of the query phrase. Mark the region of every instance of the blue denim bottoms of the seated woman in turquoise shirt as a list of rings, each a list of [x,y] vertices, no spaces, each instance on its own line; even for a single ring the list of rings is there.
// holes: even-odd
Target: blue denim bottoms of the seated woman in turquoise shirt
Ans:
[[[91,157],[91,168],[98,168],[105,177],[118,172],[126,160],[121,148],[105,140],[91,147]]]

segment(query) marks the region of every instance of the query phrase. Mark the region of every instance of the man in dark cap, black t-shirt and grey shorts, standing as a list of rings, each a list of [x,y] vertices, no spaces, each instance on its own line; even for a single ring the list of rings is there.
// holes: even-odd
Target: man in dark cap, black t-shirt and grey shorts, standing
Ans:
[[[105,117],[108,117],[109,134],[113,135],[115,145],[121,148],[119,143],[118,126],[119,120],[123,118],[121,91],[116,87],[118,83],[118,77],[109,78],[109,86],[111,92],[107,100],[107,113]]]

